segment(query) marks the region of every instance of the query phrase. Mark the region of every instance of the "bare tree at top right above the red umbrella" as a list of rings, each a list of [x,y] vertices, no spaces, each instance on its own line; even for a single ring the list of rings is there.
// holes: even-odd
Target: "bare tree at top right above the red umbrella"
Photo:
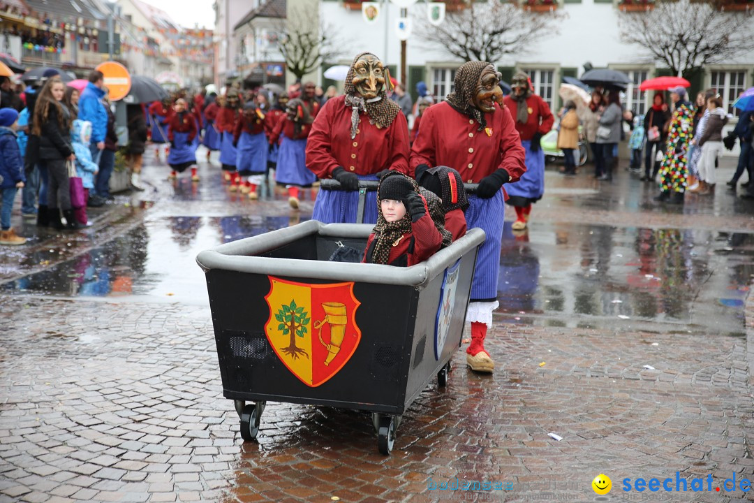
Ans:
[[[709,63],[754,49],[752,11],[726,12],[716,2],[657,2],[654,10],[621,14],[621,40],[639,45],[652,63],[686,76]]]

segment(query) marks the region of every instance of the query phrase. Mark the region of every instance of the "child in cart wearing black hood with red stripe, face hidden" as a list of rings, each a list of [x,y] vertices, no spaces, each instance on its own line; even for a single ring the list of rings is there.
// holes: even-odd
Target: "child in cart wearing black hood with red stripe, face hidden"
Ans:
[[[444,227],[452,234],[453,241],[465,235],[464,212],[469,207],[469,201],[458,171],[447,166],[433,167],[421,176],[420,184],[440,198],[445,212]]]

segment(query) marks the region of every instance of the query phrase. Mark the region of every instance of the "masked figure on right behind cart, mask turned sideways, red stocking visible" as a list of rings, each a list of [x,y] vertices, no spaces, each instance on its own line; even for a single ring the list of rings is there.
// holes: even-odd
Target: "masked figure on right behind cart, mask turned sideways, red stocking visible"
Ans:
[[[411,167],[419,183],[434,166],[458,170],[467,183],[479,183],[466,210],[469,228],[480,227],[487,238],[477,253],[466,314],[471,345],[466,362],[472,370],[492,372],[495,363],[484,349],[492,311],[498,308],[498,268],[506,182],[526,172],[525,151],[513,118],[501,108],[501,75],[484,61],[470,61],[455,73],[455,92],[446,102],[429,107],[411,150]]]

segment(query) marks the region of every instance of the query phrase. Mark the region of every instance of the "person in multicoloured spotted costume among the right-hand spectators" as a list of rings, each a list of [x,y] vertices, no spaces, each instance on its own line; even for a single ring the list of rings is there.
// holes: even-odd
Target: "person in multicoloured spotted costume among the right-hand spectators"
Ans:
[[[686,101],[684,87],[673,87],[670,99],[673,100],[673,117],[667,133],[665,157],[660,166],[661,192],[655,201],[683,204],[688,176],[688,143],[694,136],[694,110],[691,103]]]

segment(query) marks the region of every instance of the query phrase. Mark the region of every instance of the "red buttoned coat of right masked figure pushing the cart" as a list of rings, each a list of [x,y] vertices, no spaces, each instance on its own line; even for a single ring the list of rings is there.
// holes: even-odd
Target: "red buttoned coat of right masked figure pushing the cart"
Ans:
[[[485,130],[477,130],[477,121],[448,103],[426,109],[411,149],[411,174],[419,164],[449,166],[461,173],[465,182],[479,183],[502,168],[510,182],[518,180],[526,172],[520,136],[510,113],[495,108],[494,113],[485,114],[489,136]]]

